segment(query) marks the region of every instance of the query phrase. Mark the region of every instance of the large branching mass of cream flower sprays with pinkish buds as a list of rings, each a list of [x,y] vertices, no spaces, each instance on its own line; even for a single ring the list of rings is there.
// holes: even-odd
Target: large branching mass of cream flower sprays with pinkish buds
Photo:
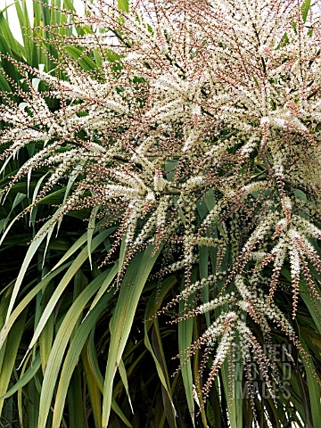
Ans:
[[[118,226],[103,259],[109,263],[121,243],[118,284],[146,248],[152,256],[161,251],[159,280],[184,271],[185,288],[161,311],[183,300],[178,322],[207,314],[207,329],[179,356],[184,366],[202,349],[203,399],[234,343],[244,366],[256,359],[271,385],[276,363],[256,331],[269,343],[271,329],[279,329],[311,367],[276,295],[288,267],[290,315],[296,317],[300,283],[321,300],[314,275],[321,271],[319,5],[141,0],[123,12],[96,0],[78,19],[91,34],[56,35],[65,78],[15,62],[29,92],[17,88],[24,102],[7,97],[1,106],[8,125],[3,160],[44,143],[4,193],[49,168],[29,211],[69,179],[64,201],[35,240],[51,235],[70,211],[89,209],[89,230],[98,220],[100,227]],[[84,70],[67,58],[66,45],[99,52],[101,66]],[[50,90],[37,92],[31,78]],[[50,97],[59,100],[58,110],[49,110]],[[203,248],[211,263],[195,282]],[[244,375],[251,392],[251,370]],[[250,397],[254,409],[253,391]]]

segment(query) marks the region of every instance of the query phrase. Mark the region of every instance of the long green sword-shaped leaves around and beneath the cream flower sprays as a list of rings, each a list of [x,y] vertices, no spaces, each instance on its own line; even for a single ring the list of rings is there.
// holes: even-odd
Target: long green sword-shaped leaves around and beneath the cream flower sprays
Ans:
[[[44,64],[46,71],[53,70],[54,60],[59,59],[50,31],[30,28],[64,24],[70,17],[46,8],[46,1],[43,3],[34,2],[32,22],[25,0],[11,6],[18,12],[23,45],[12,36],[6,11],[0,13],[0,52],[4,54],[1,91],[16,92],[17,86],[27,89],[16,64],[5,55],[35,68]],[[63,4],[54,0],[52,4],[74,12],[71,0]],[[128,4],[119,0],[119,7],[126,10]],[[308,10],[309,2],[304,2],[303,12],[304,8]],[[72,31],[81,35],[90,29],[76,25],[53,31],[71,36]],[[68,52],[74,59],[79,58],[86,70],[99,67],[101,62],[98,53],[82,55],[75,48]],[[38,90],[45,90],[43,83]],[[51,109],[56,107],[54,102],[50,104]],[[30,144],[18,159],[4,162],[0,185],[4,187],[8,177],[37,150],[37,144]],[[53,189],[28,216],[20,218],[21,211],[36,198],[46,173],[45,169],[37,170],[26,181],[14,185],[0,206],[0,327],[12,293],[21,284],[18,304],[0,331],[0,426],[251,427],[253,409],[248,399],[242,399],[242,374],[231,384],[228,361],[201,409],[193,399],[193,384],[196,391],[201,391],[198,352],[192,362],[172,376],[177,369],[177,360],[172,357],[190,346],[209,320],[189,318],[171,325],[170,311],[153,317],[184,282],[183,272],[165,277],[161,284],[149,279],[150,273],[161,266],[161,250],[153,256],[152,248],[137,254],[128,265],[119,292],[115,292],[111,284],[121,268],[125,243],[110,267],[99,268],[115,229],[104,230],[94,223],[87,229],[86,211],[69,213],[58,235],[49,229],[30,244],[40,227],[45,230],[37,219],[53,216],[53,206],[61,203],[68,192],[67,184],[63,192]],[[200,208],[200,218],[210,203]],[[320,250],[318,253],[321,255]],[[210,249],[202,249],[193,270],[195,280],[208,275],[209,263],[215,266],[216,255]],[[315,277],[319,284],[317,272]],[[277,304],[289,317],[290,283],[289,271],[284,268],[284,292],[282,297],[278,294]],[[321,305],[310,298],[303,283],[300,287],[301,299],[293,325],[309,352],[310,366],[302,362],[293,346],[289,348],[294,361],[287,385],[289,393],[279,398],[277,406],[272,399],[258,396],[255,410],[261,427],[321,426],[320,386],[311,371],[312,367],[320,374]],[[178,310],[183,311],[183,306],[184,303]],[[279,332],[274,341],[288,345]],[[259,342],[264,338],[259,337]],[[242,373],[242,363],[239,365]],[[294,422],[296,425],[292,425]]]

